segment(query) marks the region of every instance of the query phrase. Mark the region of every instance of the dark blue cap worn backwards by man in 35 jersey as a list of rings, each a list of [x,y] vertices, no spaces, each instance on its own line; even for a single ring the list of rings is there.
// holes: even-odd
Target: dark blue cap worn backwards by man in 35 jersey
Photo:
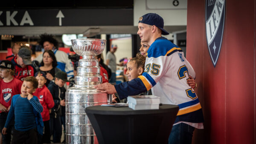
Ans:
[[[140,17],[139,23],[145,23],[151,26],[155,25],[162,30],[162,35],[169,35],[169,32],[163,29],[163,18],[156,13],[144,14]]]

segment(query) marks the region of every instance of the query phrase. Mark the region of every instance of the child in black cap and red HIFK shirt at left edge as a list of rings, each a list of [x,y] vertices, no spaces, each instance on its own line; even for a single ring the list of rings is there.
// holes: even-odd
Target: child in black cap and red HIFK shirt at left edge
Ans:
[[[2,132],[6,118],[11,107],[12,96],[20,94],[22,81],[13,77],[14,65],[9,60],[0,62],[0,76],[3,80],[0,81],[0,130]],[[3,144],[11,142],[11,130],[14,122],[10,124],[7,135],[2,135]]]

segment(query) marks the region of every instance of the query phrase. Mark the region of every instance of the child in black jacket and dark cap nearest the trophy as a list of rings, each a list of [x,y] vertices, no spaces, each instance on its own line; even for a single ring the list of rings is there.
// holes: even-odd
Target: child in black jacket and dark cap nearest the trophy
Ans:
[[[52,94],[54,107],[50,113],[50,135],[53,134],[53,143],[61,142],[61,120],[65,130],[65,92],[64,84],[67,82],[67,73],[59,71],[55,74],[54,82],[51,81],[48,89]],[[62,117],[61,117],[62,116]]]

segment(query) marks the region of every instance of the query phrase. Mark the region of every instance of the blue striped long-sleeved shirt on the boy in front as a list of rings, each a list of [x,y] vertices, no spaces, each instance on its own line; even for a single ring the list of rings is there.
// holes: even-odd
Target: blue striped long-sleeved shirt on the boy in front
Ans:
[[[43,107],[38,98],[36,96],[33,97],[34,98],[28,100],[28,98],[22,98],[20,95],[18,95],[15,104],[13,104],[14,98],[12,98],[11,108],[4,127],[9,127],[12,118],[15,117],[14,121],[16,130],[27,131],[36,128],[33,107],[37,112],[43,112]]]

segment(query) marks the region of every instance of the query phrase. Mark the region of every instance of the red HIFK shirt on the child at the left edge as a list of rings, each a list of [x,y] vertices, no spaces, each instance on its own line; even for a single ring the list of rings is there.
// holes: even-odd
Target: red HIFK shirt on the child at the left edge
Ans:
[[[11,105],[13,95],[20,94],[22,81],[17,78],[13,78],[9,83],[0,81],[0,103],[8,108]],[[1,110],[0,110],[1,113]]]

